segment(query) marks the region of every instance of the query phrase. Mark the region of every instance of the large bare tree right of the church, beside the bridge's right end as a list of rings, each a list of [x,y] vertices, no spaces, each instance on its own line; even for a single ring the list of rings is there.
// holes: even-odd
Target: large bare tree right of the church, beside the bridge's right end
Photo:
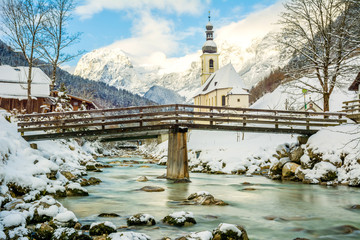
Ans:
[[[309,91],[323,96],[324,111],[340,76],[358,67],[351,57],[360,47],[359,0],[289,0],[281,14],[279,42],[294,50],[288,74]],[[301,77],[316,82],[302,81]]]

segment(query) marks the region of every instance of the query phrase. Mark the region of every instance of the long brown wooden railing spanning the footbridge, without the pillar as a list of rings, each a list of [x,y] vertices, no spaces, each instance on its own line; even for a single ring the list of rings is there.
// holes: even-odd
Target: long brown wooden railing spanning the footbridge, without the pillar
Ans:
[[[280,132],[281,129],[318,129],[346,122],[344,113],[317,113],[302,111],[265,110],[251,108],[230,108],[170,104],[87,111],[25,114],[18,116],[19,132],[22,135],[56,134],[76,132],[120,132],[171,128],[184,125],[195,129],[256,130],[268,126]],[[270,129],[270,130],[269,130]],[[36,132],[36,133],[35,133]],[[74,133],[75,134],[75,133]],[[68,134],[69,135],[69,134]]]

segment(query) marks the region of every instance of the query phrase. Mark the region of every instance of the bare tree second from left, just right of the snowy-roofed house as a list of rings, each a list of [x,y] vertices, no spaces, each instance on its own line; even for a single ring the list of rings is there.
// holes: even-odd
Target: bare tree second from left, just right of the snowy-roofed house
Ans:
[[[64,62],[70,61],[82,54],[79,51],[74,54],[65,54],[63,50],[75,43],[80,33],[70,34],[66,25],[71,20],[71,13],[75,8],[74,0],[51,0],[50,10],[44,24],[44,37],[41,38],[39,46],[42,56],[52,66],[51,90],[54,90],[56,81],[56,70]]]

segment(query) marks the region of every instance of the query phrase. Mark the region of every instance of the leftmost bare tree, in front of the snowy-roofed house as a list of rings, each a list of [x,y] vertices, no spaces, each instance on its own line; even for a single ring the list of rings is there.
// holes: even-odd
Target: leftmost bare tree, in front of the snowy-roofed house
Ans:
[[[2,0],[1,13],[3,31],[15,50],[24,55],[29,71],[27,76],[27,112],[32,109],[32,68],[36,60],[38,37],[47,13],[45,0]]]

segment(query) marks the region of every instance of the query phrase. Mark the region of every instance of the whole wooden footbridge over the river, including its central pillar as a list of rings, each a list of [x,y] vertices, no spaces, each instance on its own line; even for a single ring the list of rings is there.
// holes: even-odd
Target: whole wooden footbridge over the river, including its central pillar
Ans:
[[[18,116],[27,141],[95,138],[121,141],[169,134],[167,177],[188,179],[188,129],[311,135],[346,122],[344,113],[158,105]]]

